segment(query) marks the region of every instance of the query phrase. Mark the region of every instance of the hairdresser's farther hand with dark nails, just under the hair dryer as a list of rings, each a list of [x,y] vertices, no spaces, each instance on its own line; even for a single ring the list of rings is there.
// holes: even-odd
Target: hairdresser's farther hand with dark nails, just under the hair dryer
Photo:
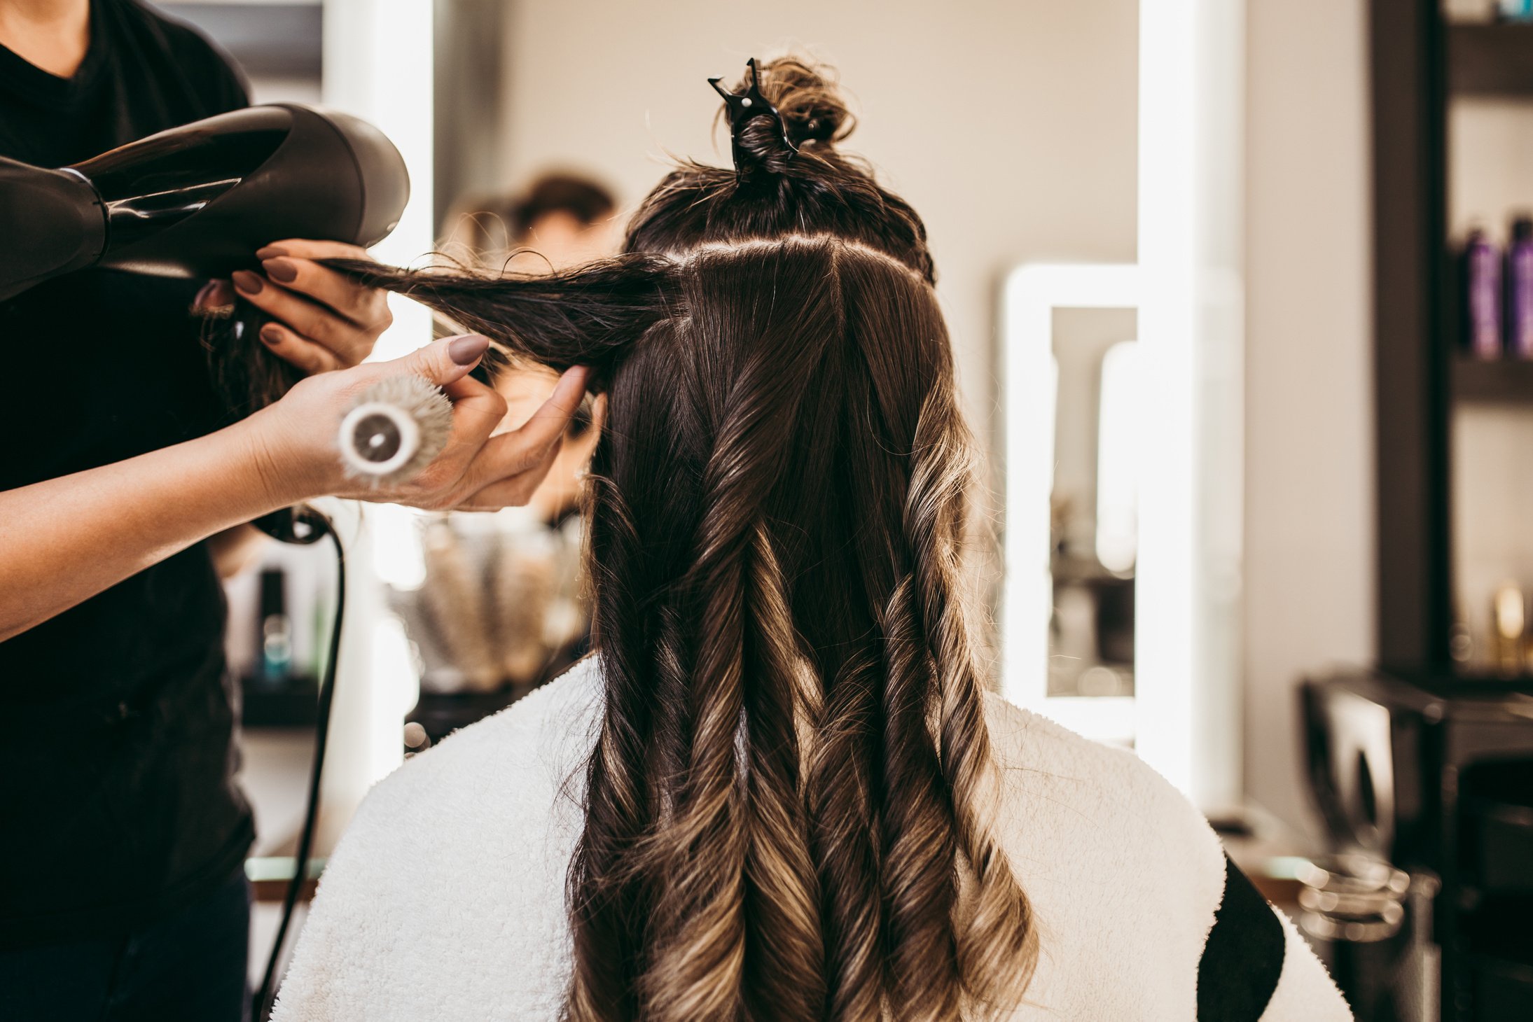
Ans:
[[[363,288],[319,259],[368,259],[356,245],[285,239],[256,251],[261,268],[235,273],[239,296],[271,316],[261,340],[310,375],[359,365],[394,317],[383,291]]]

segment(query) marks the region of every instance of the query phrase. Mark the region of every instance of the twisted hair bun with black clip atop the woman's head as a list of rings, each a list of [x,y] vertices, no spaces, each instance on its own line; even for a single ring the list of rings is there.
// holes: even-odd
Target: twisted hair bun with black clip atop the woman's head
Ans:
[[[852,116],[823,74],[794,57],[757,66],[747,63],[734,90],[721,78],[708,84],[724,97],[730,121],[734,170],[744,179],[753,169],[785,173],[800,147],[829,146],[851,135]]]

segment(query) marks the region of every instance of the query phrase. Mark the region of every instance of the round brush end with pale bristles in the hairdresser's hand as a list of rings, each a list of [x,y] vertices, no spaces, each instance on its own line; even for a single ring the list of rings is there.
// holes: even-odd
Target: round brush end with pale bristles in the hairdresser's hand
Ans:
[[[388,377],[359,394],[340,420],[340,460],[356,480],[399,486],[442,454],[451,432],[452,401],[435,383]]]

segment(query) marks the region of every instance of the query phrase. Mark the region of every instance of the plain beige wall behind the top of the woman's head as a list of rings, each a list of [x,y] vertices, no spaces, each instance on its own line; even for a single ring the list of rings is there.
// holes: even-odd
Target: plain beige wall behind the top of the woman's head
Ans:
[[[993,308],[1023,260],[1133,262],[1136,0],[517,0],[509,18],[512,181],[604,175],[638,202],[665,153],[728,165],[711,133],[750,57],[832,63],[863,153],[926,219],[973,424],[993,423]]]

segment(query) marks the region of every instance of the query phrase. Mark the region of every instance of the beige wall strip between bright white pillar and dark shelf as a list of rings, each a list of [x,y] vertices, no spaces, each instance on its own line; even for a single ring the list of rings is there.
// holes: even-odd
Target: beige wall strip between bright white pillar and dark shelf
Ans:
[[[1364,0],[1251,0],[1246,789],[1308,821],[1294,683],[1375,648]]]

